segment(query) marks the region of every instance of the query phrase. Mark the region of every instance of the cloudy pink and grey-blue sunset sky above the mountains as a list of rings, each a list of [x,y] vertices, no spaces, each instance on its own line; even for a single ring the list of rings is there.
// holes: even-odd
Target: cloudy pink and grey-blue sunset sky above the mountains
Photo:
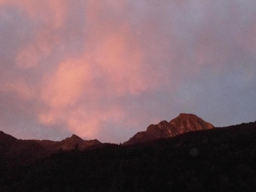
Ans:
[[[0,130],[120,143],[256,120],[255,0],[0,0]]]

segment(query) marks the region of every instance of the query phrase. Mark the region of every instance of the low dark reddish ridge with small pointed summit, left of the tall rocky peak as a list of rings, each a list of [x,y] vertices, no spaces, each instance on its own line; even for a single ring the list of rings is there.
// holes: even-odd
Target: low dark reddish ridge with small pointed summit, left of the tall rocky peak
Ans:
[[[29,163],[36,159],[44,158],[60,150],[84,150],[91,146],[101,144],[98,140],[83,140],[77,135],[72,135],[62,141],[50,140],[22,140],[0,131],[0,156],[10,162]]]

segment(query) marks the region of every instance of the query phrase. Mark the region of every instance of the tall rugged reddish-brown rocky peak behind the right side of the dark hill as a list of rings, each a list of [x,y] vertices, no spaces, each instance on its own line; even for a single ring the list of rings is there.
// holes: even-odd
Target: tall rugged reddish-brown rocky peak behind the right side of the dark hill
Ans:
[[[170,122],[161,121],[158,124],[151,124],[146,131],[136,133],[123,145],[130,145],[138,142],[152,141],[159,138],[174,137],[189,131],[212,129],[214,126],[194,114],[180,113]]]

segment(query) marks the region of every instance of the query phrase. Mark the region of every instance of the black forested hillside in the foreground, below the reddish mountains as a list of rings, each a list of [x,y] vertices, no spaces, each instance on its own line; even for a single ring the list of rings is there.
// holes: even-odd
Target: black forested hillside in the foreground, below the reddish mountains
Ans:
[[[60,151],[26,166],[7,166],[0,156],[0,189],[256,191],[255,172],[256,121],[134,145]]]

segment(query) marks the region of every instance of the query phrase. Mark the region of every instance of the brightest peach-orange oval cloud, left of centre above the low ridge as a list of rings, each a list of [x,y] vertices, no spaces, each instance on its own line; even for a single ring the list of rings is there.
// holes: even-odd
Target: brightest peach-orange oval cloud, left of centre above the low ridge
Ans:
[[[42,87],[42,100],[51,107],[71,105],[79,99],[91,79],[91,69],[85,60],[67,60],[60,63],[52,76],[46,77],[45,86]]]

